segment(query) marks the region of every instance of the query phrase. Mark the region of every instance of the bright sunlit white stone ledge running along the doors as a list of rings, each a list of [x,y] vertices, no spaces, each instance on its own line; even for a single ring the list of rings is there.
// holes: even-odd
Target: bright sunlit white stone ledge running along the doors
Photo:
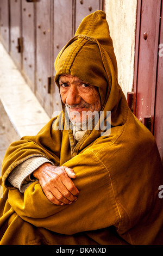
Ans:
[[[20,137],[35,135],[49,120],[1,42],[0,99]]]

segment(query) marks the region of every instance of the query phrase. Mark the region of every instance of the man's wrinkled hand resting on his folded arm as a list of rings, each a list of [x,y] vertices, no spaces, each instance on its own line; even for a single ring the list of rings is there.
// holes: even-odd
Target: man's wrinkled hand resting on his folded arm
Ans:
[[[44,163],[33,175],[39,180],[43,192],[53,204],[71,204],[77,200],[79,191],[71,180],[76,178],[73,169]]]

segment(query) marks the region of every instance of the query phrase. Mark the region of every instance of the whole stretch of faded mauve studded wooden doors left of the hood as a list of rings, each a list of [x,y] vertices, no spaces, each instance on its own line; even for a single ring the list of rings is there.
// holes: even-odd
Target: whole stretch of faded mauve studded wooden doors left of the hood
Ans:
[[[61,110],[59,90],[54,84],[55,58],[73,37],[82,19],[103,9],[103,0],[0,1],[4,11],[2,14],[1,10],[1,34],[4,34],[2,25],[6,23],[11,57],[52,117],[54,111]]]

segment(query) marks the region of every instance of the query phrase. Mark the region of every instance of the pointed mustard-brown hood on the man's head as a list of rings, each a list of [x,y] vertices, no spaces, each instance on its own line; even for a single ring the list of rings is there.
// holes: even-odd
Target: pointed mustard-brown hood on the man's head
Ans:
[[[125,123],[128,103],[117,82],[117,62],[104,11],[86,16],[55,60],[55,83],[71,74],[98,87],[102,111],[111,111],[111,125]]]

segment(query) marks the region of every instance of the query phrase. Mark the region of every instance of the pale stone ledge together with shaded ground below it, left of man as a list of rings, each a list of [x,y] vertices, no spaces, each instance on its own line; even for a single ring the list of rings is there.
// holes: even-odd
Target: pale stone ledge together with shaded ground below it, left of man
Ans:
[[[49,119],[0,42],[0,173],[10,143],[36,135]]]

